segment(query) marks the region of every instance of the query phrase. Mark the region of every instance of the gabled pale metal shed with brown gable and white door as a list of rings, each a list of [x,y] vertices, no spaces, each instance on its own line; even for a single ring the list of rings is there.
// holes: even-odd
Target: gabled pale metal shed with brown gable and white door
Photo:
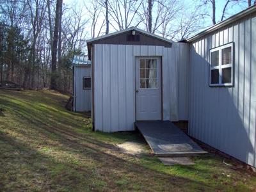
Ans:
[[[95,130],[131,131],[136,120],[187,120],[188,44],[132,27],[87,45]]]

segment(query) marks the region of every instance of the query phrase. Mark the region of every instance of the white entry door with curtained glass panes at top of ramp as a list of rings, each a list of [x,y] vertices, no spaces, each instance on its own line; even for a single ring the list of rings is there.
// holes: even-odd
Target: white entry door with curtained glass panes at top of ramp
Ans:
[[[161,120],[161,59],[136,57],[136,120]]]

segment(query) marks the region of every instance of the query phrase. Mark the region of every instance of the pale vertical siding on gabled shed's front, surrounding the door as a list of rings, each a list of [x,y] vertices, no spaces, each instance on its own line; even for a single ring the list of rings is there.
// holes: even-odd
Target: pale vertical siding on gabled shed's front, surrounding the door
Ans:
[[[182,55],[181,49],[184,49],[186,54]],[[179,116],[180,120],[187,119],[188,44],[173,44],[172,48],[95,44],[93,55],[95,130],[134,130],[136,56],[162,57],[163,119],[179,120]],[[182,55],[181,60],[179,55]],[[178,85],[182,87],[180,90]]]

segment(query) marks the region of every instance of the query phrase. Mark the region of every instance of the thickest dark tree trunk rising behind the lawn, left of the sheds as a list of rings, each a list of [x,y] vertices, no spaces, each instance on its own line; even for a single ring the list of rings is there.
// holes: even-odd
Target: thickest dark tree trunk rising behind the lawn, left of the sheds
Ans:
[[[51,72],[51,86],[50,86],[52,90],[56,90],[57,88],[56,65],[57,65],[57,45],[58,45],[58,35],[59,35],[59,24],[60,24],[60,4],[62,4],[62,0],[57,0],[54,34],[53,34],[53,41],[52,41],[52,67],[51,67],[52,72]]]

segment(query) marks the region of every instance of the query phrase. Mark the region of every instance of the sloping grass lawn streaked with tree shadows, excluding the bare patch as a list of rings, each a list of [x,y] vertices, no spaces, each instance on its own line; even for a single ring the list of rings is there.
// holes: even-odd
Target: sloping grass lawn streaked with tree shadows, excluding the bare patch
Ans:
[[[256,177],[215,154],[195,165],[164,166],[134,132],[92,132],[68,97],[0,90],[0,191],[256,191]],[[141,156],[116,143],[139,141]]]

